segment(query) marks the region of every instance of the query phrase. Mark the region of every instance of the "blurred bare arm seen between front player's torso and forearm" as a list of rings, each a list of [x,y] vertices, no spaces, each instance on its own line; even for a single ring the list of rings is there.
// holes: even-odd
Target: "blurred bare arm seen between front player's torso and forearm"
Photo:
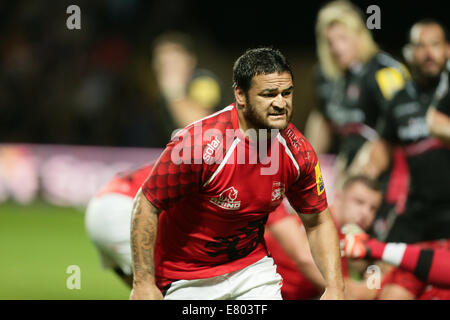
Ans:
[[[314,263],[304,228],[292,217],[271,224],[269,231],[294,261],[300,272],[317,288],[325,288],[325,280]]]

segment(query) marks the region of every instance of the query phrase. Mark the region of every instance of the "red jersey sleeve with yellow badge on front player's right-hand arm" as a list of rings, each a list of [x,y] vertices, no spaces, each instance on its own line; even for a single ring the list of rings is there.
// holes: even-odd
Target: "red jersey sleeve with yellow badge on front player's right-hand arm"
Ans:
[[[328,203],[317,154],[300,132],[295,128],[288,130],[294,132],[287,135],[287,143],[299,166],[299,176],[289,186],[286,196],[298,213],[320,213]]]

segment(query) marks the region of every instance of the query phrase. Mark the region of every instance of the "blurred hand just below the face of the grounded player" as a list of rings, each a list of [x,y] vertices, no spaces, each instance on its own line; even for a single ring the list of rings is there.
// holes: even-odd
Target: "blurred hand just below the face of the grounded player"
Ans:
[[[341,232],[345,235],[345,239],[341,242],[341,251],[347,258],[364,259],[368,256],[369,249],[366,241],[369,235],[360,227],[354,224],[348,224],[342,227]]]

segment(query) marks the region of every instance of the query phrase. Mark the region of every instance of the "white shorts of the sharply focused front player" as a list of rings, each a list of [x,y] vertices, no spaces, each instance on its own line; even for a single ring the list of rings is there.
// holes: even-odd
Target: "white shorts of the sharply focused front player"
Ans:
[[[270,257],[221,276],[174,281],[165,300],[282,300],[281,276]]]

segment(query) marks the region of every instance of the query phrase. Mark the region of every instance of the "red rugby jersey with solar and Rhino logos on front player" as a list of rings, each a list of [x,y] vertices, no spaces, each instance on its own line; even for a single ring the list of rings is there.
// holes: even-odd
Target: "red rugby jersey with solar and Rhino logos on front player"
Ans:
[[[155,250],[160,286],[161,279],[236,271],[267,255],[264,226],[285,195],[304,214],[327,208],[317,156],[292,124],[269,140],[265,157],[252,141],[230,105],[179,132],[155,163],[142,190],[163,210]]]

